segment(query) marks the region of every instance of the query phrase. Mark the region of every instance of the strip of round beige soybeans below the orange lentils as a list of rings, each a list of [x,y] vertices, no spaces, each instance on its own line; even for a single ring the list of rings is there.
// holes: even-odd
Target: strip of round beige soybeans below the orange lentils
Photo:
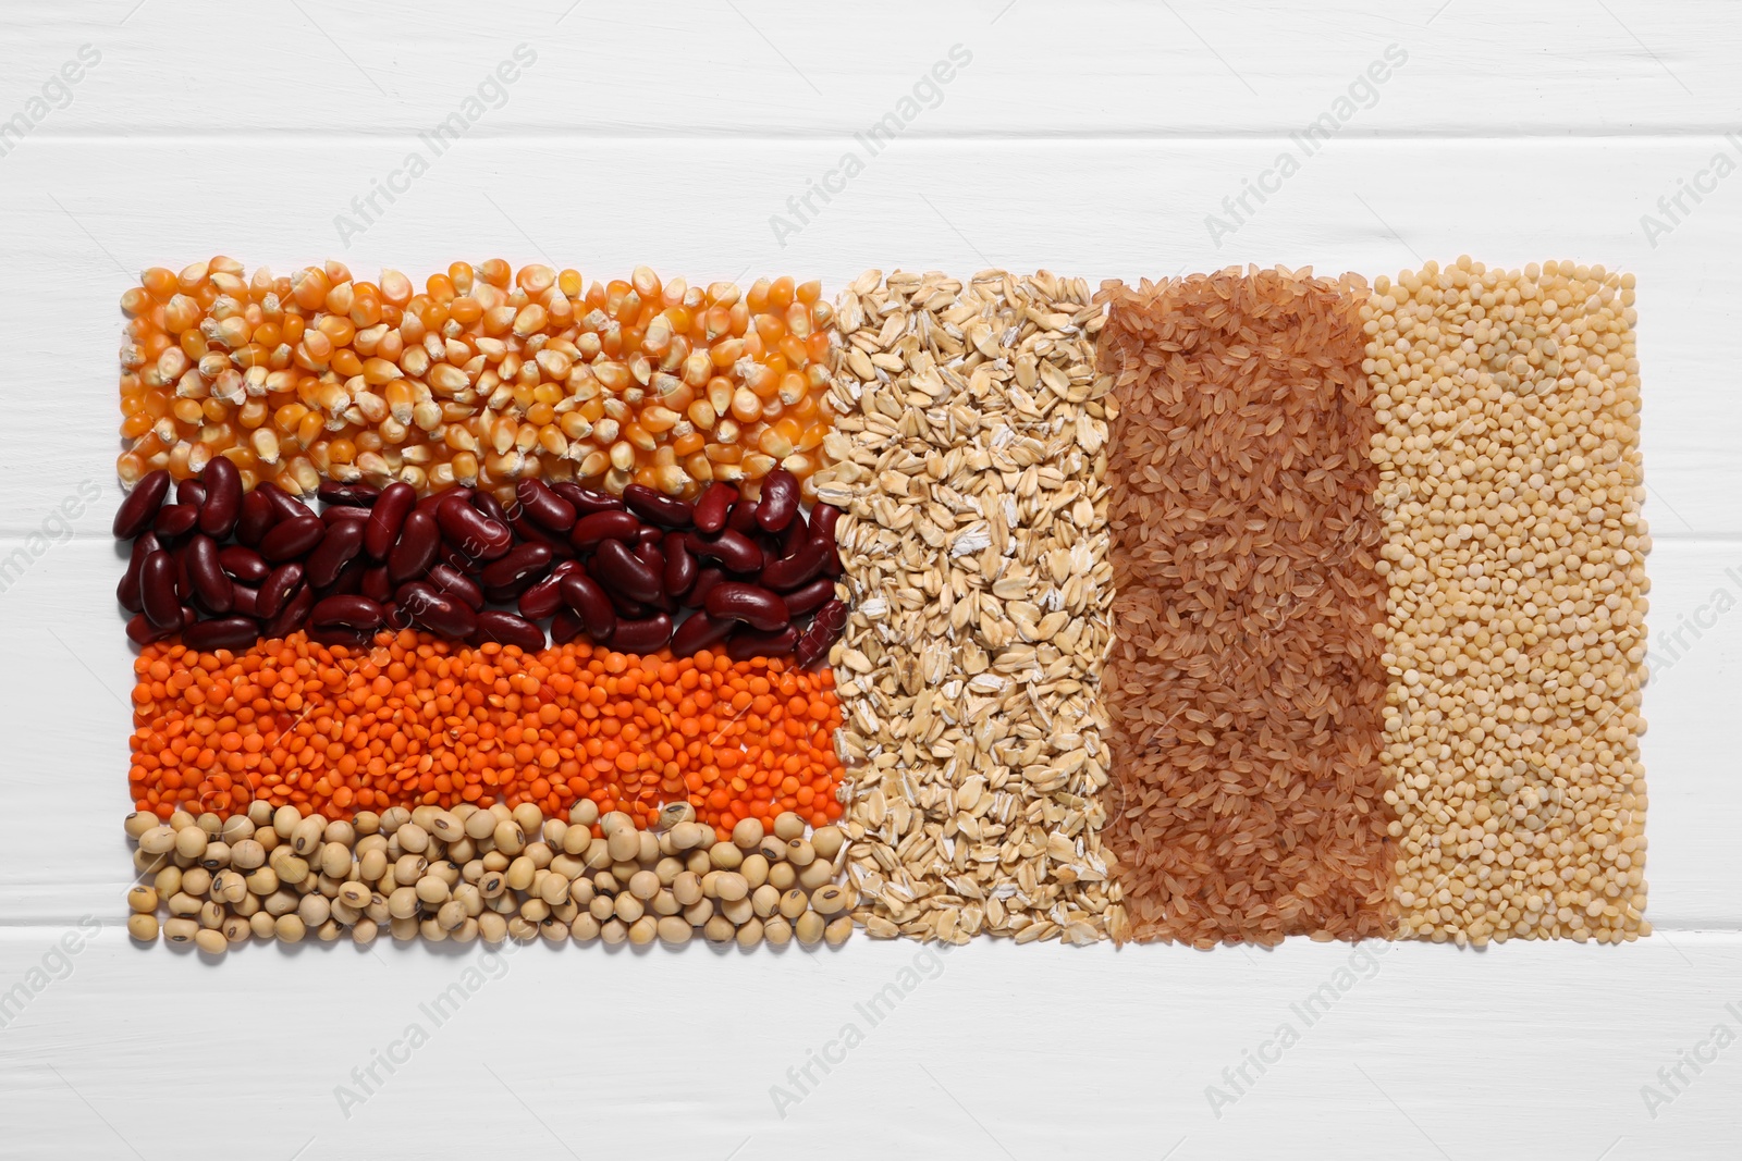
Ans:
[[[681,947],[702,928],[709,942],[754,947],[763,940],[784,943],[793,931],[786,921],[772,919],[766,900],[749,902],[746,876],[726,869],[742,858],[740,844],[697,827],[686,802],[662,813],[660,822],[669,825],[657,836],[636,830],[629,815],[601,815],[591,799],[575,802],[566,818],[545,816],[528,804],[510,811],[503,802],[488,808],[460,802],[451,811],[429,804],[359,811],[343,822],[254,801],[226,820],[174,811],[167,825],[145,825],[155,822],[150,813],[127,820],[127,834],[136,841],[157,830],[171,836],[167,849],[150,853],[141,846],[134,855],[150,884],[127,893],[127,931],[139,942],[155,942],[157,912],[164,909],[171,917],[162,935],[176,943],[192,942],[207,956],[221,956],[251,938],[296,943],[312,935],[321,942],[350,938],[368,945],[381,924],[395,940],[460,943],[657,938]],[[796,815],[777,815],[775,822],[805,829]],[[324,851],[322,865],[319,872],[298,869],[301,860],[289,846],[275,846],[273,856],[294,872],[291,879],[258,870],[244,879],[230,867],[207,874],[183,853],[195,844],[185,836],[202,841],[219,829],[237,837],[232,849],[244,842],[260,846],[256,839],[268,836],[275,842],[305,837],[310,849]],[[509,836],[514,841],[503,844],[500,837]],[[852,935],[852,919],[843,914],[852,891],[836,882],[847,846],[834,827],[817,829],[814,841],[836,849],[829,876],[808,893],[793,889],[780,896],[780,914],[796,921],[807,947],[819,940],[836,947]]]

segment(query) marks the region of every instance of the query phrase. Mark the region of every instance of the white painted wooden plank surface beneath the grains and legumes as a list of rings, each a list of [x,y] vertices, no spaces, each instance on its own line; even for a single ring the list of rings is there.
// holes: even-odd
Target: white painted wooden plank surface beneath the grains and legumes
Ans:
[[[1653,205],[1714,153],[1742,162],[1725,136],[1742,131],[1737,7],[636,9],[0,7],[0,120],[40,122],[23,143],[0,136],[0,559],[30,555],[0,592],[0,996],[28,994],[0,1008],[0,1158],[1737,1156],[1742,178],[1683,195],[1679,221]],[[418,134],[521,44],[537,61],[505,103],[341,244],[334,214],[429,155]],[[82,45],[101,59],[61,108],[54,77]],[[953,45],[972,59],[922,108],[932,94],[915,84]],[[1408,59],[1371,108],[1359,91],[1336,138],[1301,157],[1289,134],[1336,115],[1390,45]],[[911,124],[866,157],[854,134],[890,111]],[[1218,245],[1205,214],[1284,150],[1300,172]],[[782,245],[770,216],[847,151],[862,172],[814,197]],[[1644,212],[1671,232],[1648,238]],[[981,942],[920,963],[869,940],[820,956],[530,947],[500,963],[253,947],[218,966],[134,949],[115,926],[131,684],[110,601],[115,301],[141,266],[214,251],[413,277],[503,256],[833,285],[868,265],[1374,275],[1460,252],[1632,270],[1662,661],[1646,696],[1658,935],[1374,957]],[[1698,635],[1662,641],[1681,625]],[[101,933],[82,936],[82,917]],[[876,1025],[855,1008],[904,982]],[[437,1027],[420,1004],[453,983],[465,999]],[[1315,992],[1329,1011],[1303,1017]],[[350,1070],[413,1022],[429,1043],[394,1048],[406,1064],[341,1109],[336,1086],[364,1095]],[[770,1086],[800,1095],[787,1069],[847,1023],[862,1043],[827,1076],[812,1067],[820,1083],[780,1116]],[[1237,1093],[1223,1069],[1246,1050],[1277,1057],[1265,1044],[1282,1023],[1300,1041],[1263,1074],[1246,1065]],[[1681,1064],[1671,1086],[1658,1069],[1683,1053],[1700,1072]],[[1237,1100],[1212,1109],[1211,1084]]]

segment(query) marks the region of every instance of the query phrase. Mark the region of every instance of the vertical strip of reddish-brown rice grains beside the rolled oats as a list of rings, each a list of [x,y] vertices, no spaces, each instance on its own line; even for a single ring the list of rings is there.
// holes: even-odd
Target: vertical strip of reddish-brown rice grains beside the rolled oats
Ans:
[[[1392,929],[1357,277],[1106,284],[1115,790],[1138,940]]]

